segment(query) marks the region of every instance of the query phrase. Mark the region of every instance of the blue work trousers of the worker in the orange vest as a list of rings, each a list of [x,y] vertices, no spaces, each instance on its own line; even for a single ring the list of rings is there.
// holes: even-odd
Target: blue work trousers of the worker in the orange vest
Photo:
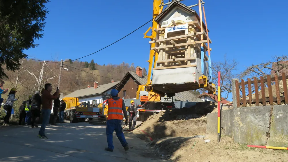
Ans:
[[[126,142],[126,139],[124,137],[123,131],[122,131],[122,120],[118,119],[110,119],[106,122],[106,135],[107,135],[107,142],[108,142],[108,148],[114,149],[113,146],[113,132],[116,132],[116,135],[121,142],[122,146],[125,147],[128,145]]]

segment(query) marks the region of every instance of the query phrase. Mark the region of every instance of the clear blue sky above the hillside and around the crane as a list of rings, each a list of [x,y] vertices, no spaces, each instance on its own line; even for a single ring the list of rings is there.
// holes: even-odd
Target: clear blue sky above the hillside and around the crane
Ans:
[[[165,0],[165,3],[168,0]],[[274,55],[287,55],[288,2],[268,0],[206,0],[205,11],[212,40],[212,61],[229,59],[239,62],[238,70],[261,63]],[[185,0],[193,5],[198,0]],[[37,48],[25,51],[41,60],[76,59],[93,53],[130,33],[152,18],[153,0],[96,1],[58,0],[49,2],[44,37]],[[198,7],[194,7],[198,12]],[[96,63],[134,63],[148,67],[149,39],[145,25],[120,42],[81,59]]]

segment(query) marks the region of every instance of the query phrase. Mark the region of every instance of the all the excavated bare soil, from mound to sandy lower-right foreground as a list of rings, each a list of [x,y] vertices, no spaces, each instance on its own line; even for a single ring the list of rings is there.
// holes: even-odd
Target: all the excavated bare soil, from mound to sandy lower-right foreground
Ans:
[[[206,134],[206,114],[213,110],[217,108],[210,102],[192,108],[167,110],[149,116],[129,134],[149,142],[149,155],[168,162],[287,161],[287,150],[248,148],[223,136],[218,143],[217,136]],[[205,143],[204,140],[211,142]]]

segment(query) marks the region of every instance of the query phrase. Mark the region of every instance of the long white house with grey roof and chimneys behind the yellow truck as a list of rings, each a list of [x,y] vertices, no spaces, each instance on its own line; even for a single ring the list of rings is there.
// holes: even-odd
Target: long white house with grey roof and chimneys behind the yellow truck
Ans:
[[[94,82],[94,87],[87,86],[87,88],[80,89],[70,93],[65,97],[77,97],[79,103],[88,102],[92,105],[99,106],[100,103],[103,102],[102,95],[110,96],[111,89],[116,88],[120,81],[111,83],[98,85],[98,82]]]

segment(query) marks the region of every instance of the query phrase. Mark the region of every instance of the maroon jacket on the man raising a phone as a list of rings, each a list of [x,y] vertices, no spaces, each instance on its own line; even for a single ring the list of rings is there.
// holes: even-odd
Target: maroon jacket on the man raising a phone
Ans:
[[[50,109],[52,110],[52,100],[58,98],[57,92],[55,92],[53,95],[46,89],[42,89],[41,91],[41,101],[42,101],[42,109]]]

